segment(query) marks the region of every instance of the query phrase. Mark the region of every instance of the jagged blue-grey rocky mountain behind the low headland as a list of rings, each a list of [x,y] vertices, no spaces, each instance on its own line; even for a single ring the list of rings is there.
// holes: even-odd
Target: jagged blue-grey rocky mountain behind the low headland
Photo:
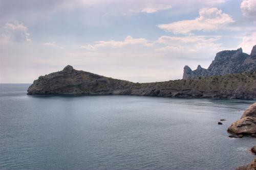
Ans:
[[[251,71],[256,71],[256,45],[253,46],[250,55],[243,53],[242,48],[219,52],[207,69],[198,65],[197,69],[193,71],[186,65],[184,67],[183,79],[238,74]]]

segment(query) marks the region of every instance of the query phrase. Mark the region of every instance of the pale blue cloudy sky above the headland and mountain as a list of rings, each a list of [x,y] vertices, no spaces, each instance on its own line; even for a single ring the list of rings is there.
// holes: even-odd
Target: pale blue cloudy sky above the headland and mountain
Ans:
[[[72,65],[132,82],[181,79],[216,53],[250,54],[256,0],[0,0],[0,83]]]

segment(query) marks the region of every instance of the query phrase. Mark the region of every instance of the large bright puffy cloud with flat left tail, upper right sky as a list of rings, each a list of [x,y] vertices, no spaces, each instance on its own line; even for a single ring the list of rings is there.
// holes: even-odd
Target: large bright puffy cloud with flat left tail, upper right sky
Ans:
[[[218,8],[203,8],[199,17],[193,20],[182,20],[169,24],[158,25],[162,30],[175,34],[190,34],[193,31],[216,31],[229,28],[234,20]],[[229,28],[230,29],[230,28]]]

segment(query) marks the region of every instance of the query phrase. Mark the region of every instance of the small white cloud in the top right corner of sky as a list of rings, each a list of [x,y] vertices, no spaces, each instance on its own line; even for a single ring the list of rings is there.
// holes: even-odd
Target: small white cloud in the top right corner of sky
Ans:
[[[245,17],[256,18],[256,0],[243,0],[240,8]]]

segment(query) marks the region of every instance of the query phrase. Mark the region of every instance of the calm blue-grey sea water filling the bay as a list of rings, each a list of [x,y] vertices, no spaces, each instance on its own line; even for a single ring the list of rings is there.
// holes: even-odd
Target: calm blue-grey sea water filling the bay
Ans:
[[[254,158],[255,138],[226,130],[255,101],[30,96],[28,86],[0,85],[0,169],[233,169]]]

